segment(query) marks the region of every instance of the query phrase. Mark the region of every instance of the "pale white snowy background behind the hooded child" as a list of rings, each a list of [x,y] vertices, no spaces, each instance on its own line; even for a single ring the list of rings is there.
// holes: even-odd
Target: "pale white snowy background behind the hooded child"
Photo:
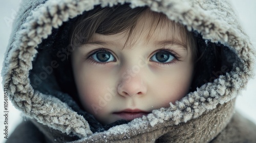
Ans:
[[[4,53],[8,44],[11,33],[12,21],[18,12],[20,0],[1,0],[0,2],[0,69],[4,60]],[[233,0],[234,8],[236,9],[245,31],[251,38],[251,41],[256,47],[256,0]],[[256,71],[256,70],[255,70]],[[2,77],[0,77],[2,82]],[[0,83],[0,142],[5,142],[4,138],[4,92]],[[247,89],[237,99],[236,108],[241,114],[247,116],[256,124],[256,79],[249,81]],[[22,121],[20,111],[16,110],[9,102],[9,133]]]

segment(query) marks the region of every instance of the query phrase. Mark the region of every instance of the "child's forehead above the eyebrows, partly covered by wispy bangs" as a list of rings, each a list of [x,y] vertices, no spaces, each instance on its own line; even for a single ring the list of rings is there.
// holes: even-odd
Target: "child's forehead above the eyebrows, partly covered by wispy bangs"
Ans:
[[[109,41],[125,43],[125,47],[144,41],[144,44],[157,41],[173,41],[186,46],[185,28],[169,20],[165,15],[144,11],[130,29],[113,35],[94,34],[89,41]]]

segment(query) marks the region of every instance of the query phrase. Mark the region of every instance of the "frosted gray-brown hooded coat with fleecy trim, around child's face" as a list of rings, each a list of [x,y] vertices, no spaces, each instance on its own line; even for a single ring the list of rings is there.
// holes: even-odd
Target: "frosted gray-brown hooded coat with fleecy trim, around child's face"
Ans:
[[[162,12],[197,31],[199,45],[210,49],[213,43],[225,50],[212,80],[175,104],[131,122],[102,126],[60,87],[54,73],[60,62],[48,50],[67,44],[68,29],[79,14],[96,5],[124,3]],[[236,97],[253,76],[254,57],[252,43],[225,0],[24,0],[2,77],[9,100],[26,120],[7,142],[256,142],[256,126],[234,110]]]

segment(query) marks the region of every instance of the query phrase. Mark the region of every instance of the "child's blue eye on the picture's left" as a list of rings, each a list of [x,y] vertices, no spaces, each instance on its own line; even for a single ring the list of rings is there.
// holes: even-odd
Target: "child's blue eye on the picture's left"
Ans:
[[[114,56],[108,51],[97,51],[92,55],[92,58],[97,62],[110,62],[114,61]]]

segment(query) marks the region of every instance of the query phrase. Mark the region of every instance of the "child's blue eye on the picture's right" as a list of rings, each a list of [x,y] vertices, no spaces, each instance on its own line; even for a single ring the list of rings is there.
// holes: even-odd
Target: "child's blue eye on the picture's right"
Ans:
[[[152,56],[151,60],[160,62],[160,63],[168,63],[170,61],[173,61],[175,57],[173,54],[165,51],[157,52],[155,55]]]

